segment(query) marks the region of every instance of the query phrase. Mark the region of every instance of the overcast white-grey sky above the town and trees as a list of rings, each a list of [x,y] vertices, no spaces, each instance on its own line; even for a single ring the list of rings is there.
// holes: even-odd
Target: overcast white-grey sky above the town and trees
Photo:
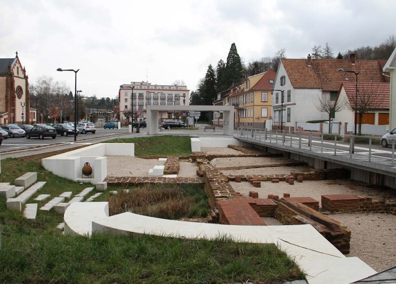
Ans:
[[[396,35],[396,1],[0,1],[0,58],[18,51],[29,82],[42,75],[84,95],[115,97],[120,84],[171,84],[194,90],[209,64],[235,42],[249,61],[302,58],[326,42],[334,53],[379,45]],[[147,77],[146,77],[147,76]]]

